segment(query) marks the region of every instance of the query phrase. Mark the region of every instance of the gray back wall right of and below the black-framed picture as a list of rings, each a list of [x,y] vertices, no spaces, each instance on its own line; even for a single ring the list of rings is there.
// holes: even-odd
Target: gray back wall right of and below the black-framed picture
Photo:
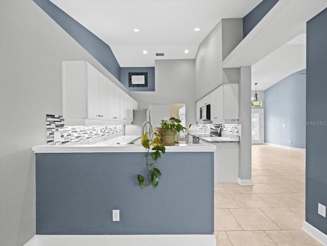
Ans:
[[[131,92],[138,101],[138,108],[149,104],[186,104],[186,125],[196,125],[195,111],[195,61],[156,60],[155,92]]]

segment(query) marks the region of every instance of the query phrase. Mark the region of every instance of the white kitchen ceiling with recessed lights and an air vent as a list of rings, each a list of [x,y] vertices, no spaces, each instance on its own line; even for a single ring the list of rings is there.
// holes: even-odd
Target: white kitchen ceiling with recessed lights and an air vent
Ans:
[[[154,66],[155,59],[194,59],[199,44],[220,19],[243,18],[261,0],[51,2],[106,42],[125,67]],[[199,32],[194,31],[197,27]]]

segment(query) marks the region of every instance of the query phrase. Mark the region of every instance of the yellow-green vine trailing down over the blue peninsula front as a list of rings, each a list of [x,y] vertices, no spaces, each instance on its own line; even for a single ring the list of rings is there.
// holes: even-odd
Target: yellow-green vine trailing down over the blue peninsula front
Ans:
[[[161,172],[158,168],[154,167],[154,164],[156,164],[158,157],[161,156],[160,152],[165,153],[166,151],[164,141],[159,133],[159,128],[155,128],[155,131],[149,132],[149,135],[148,132],[144,133],[141,143],[147,150],[146,159],[149,182],[144,184],[144,177],[141,174],[138,174],[137,180],[139,182],[139,186],[142,188],[149,186],[152,181],[152,185],[156,187],[158,185],[158,176],[161,176]],[[153,152],[150,152],[150,149],[153,150]]]

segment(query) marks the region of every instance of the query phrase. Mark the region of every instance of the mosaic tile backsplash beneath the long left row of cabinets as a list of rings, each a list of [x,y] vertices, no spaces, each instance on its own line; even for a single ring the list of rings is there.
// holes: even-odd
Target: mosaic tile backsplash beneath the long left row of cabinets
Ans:
[[[60,141],[55,142],[55,132],[60,132]],[[64,126],[62,116],[46,115],[46,144],[78,144],[82,143],[82,141],[88,144],[88,142],[94,139],[111,136],[118,137],[124,135],[124,133],[124,125]]]

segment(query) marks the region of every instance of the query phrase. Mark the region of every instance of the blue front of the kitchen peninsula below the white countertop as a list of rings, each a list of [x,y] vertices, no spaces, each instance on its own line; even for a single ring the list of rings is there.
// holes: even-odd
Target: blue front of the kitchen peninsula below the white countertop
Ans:
[[[159,185],[141,188],[145,153],[36,154],[36,234],[213,234],[214,153],[166,152],[157,167]]]

